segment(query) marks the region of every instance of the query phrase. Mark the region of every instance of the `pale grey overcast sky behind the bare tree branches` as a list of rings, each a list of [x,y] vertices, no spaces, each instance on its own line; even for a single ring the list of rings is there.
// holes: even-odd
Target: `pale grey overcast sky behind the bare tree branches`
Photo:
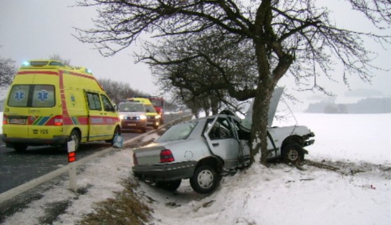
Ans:
[[[349,6],[343,4],[343,1],[333,1],[333,17],[337,24],[354,29],[366,29],[365,27],[370,25],[359,14],[348,13]],[[102,57],[93,49],[93,45],[80,43],[71,36],[75,34],[73,27],[92,27],[91,17],[96,16],[92,8],[68,7],[74,4],[75,0],[0,0],[0,57],[11,58],[20,66],[28,59],[45,59],[50,55],[60,55],[63,59],[70,59],[73,66],[91,69],[96,78],[128,82],[133,89],[159,94],[149,68],[145,64],[134,64],[132,52],[136,50],[136,46],[119,52],[114,57]],[[390,29],[385,32],[391,35]],[[375,48],[374,43],[367,45],[378,52],[376,66],[391,67],[390,46],[388,50],[382,50]],[[341,74],[339,68],[336,68],[335,73]],[[390,73],[376,72],[377,76],[372,85],[352,78],[351,89],[378,89],[385,95],[391,95]],[[340,75],[336,76],[336,80],[340,83],[324,82],[331,91],[343,94],[348,87],[341,83]],[[292,86],[288,78],[281,80],[281,84]]]

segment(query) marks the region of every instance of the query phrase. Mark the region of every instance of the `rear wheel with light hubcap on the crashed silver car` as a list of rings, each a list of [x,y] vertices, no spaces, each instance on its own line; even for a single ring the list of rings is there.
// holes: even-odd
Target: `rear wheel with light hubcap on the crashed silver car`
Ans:
[[[217,187],[220,176],[211,166],[201,165],[195,169],[193,177],[190,178],[190,185],[194,191],[200,194],[208,194]]]

